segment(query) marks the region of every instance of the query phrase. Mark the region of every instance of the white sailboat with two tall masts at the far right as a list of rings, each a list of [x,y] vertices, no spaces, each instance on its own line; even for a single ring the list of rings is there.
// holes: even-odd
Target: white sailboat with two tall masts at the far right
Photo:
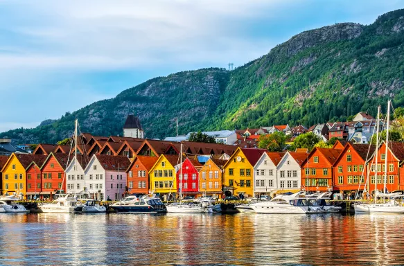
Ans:
[[[385,150],[385,175],[384,175],[384,192],[386,191],[387,184],[387,152],[389,148],[389,122],[390,122],[390,105],[391,101],[387,103],[387,130],[386,130],[386,150]],[[379,145],[379,121],[380,121],[380,106],[378,107],[377,117],[377,132],[376,132],[376,166],[378,165],[378,145]],[[375,189],[374,189],[374,203],[371,204],[355,204],[353,209],[355,213],[404,213],[404,206],[398,204],[396,199],[403,197],[401,193],[379,193],[377,189],[377,167],[375,168]],[[378,197],[388,198],[388,202],[377,203]]]

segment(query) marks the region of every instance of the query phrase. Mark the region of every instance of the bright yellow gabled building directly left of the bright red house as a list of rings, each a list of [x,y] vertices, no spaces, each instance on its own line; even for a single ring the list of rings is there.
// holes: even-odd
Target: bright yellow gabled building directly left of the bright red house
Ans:
[[[179,164],[178,155],[161,154],[149,171],[150,190],[166,195],[177,193],[175,166]]]

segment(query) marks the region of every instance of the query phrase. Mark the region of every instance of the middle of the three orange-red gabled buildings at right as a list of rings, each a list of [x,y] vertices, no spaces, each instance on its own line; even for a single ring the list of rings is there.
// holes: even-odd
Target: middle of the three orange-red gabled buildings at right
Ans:
[[[375,151],[375,145],[346,143],[333,166],[333,190],[340,193],[356,193],[363,190],[367,180],[367,161]],[[368,155],[369,154],[369,155]]]

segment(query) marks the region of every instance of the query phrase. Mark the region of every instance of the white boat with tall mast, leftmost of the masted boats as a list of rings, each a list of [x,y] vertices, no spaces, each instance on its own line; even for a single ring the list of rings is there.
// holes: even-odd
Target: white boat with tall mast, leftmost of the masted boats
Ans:
[[[77,136],[78,136],[78,120],[75,121],[75,128],[74,128],[74,180],[77,180],[77,173],[76,173],[76,163],[77,163]],[[64,178],[66,175],[64,175]],[[63,178],[63,181],[64,181]],[[76,188],[76,186],[75,186]],[[40,209],[43,213],[73,213],[74,209],[78,205],[82,204],[80,201],[76,199],[76,195],[64,195],[64,197],[58,197],[58,199],[54,200],[48,204],[38,205],[38,209]]]

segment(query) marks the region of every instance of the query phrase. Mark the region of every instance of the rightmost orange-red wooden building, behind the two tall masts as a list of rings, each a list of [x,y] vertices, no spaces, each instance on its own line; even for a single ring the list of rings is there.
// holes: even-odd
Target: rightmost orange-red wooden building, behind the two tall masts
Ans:
[[[376,153],[369,161],[368,191],[374,191],[377,171],[377,189],[383,191],[385,181],[385,167],[387,158],[387,182],[386,188],[389,192],[404,190],[404,176],[398,175],[400,164],[404,161],[404,143],[389,143],[386,157],[386,143],[380,144],[378,149],[378,163],[376,165]]]

